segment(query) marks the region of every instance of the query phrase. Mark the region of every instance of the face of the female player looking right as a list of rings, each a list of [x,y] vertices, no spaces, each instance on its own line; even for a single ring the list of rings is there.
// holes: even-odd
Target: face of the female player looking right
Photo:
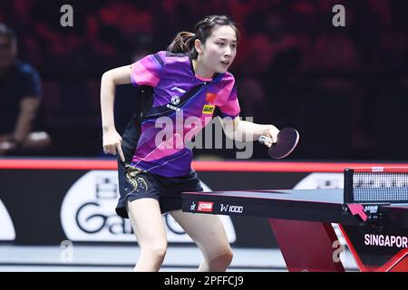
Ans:
[[[219,26],[201,49],[200,63],[209,74],[226,73],[237,54],[237,34],[229,25]]]

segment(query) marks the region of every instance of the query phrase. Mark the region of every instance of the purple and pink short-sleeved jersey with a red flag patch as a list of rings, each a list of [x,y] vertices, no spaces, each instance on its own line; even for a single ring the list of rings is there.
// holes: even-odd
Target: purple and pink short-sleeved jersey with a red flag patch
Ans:
[[[187,54],[159,52],[131,65],[131,82],[153,88],[152,105],[141,120],[131,166],[167,177],[189,174],[192,151],[185,143],[204,128],[215,108],[221,117],[239,115],[234,76],[202,79]]]

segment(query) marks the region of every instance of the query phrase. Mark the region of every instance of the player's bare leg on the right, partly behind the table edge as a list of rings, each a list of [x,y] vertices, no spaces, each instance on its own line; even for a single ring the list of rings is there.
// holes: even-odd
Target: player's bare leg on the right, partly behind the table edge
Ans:
[[[199,266],[199,271],[225,271],[228,268],[232,261],[232,250],[218,216],[181,210],[170,211],[170,215],[200,248],[204,261]]]

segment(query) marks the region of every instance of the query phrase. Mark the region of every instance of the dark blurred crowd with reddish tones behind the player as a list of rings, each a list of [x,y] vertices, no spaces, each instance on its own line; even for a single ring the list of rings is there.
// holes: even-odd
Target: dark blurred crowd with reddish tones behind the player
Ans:
[[[65,4],[73,27],[60,24]],[[345,27],[332,24],[337,4]],[[102,73],[165,50],[207,14],[228,14],[240,30],[230,71],[241,116],[300,131],[292,159],[408,160],[407,11],[400,0],[5,0],[0,23],[15,30],[19,59],[41,75],[35,126],[52,139],[41,155],[101,156]],[[137,88],[118,88],[119,131],[136,96]],[[254,158],[267,158],[260,144]]]

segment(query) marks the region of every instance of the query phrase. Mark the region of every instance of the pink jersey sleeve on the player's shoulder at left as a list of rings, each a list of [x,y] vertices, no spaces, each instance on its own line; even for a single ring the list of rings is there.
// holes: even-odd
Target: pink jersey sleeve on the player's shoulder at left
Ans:
[[[134,86],[149,85],[155,87],[165,63],[165,52],[149,54],[131,64],[131,83]]]

